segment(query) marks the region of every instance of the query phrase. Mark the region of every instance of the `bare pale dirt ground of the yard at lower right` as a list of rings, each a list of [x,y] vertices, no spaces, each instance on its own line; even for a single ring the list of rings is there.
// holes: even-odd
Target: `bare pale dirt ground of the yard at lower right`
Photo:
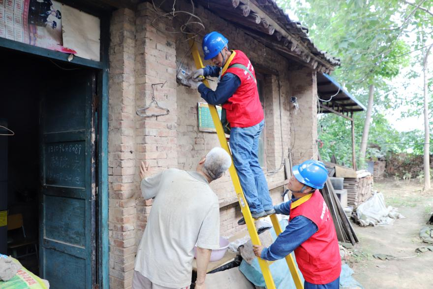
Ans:
[[[433,252],[415,253],[416,248],[429,245],[420,240],[419,232],[433,212],[433,192],[422,193],[421,189],[417,179],[409,184],[394,178],[374,183],[374,190],[384,194],[386,205],[397,207],[406,219],[388,227],[354,225],[360,243],[350,249],[354,255],[349,266],[365,289],[433,289]],[[377,253],[398,259],[372,257]]]

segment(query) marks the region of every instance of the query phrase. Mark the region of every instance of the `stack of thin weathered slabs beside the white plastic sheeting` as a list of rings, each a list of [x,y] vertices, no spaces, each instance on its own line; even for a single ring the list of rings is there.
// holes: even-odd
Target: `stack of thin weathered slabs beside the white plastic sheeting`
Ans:
[[[356,208],[372,196],[373,176],[358,171],[357,178],[344,178],[343,188],[347,190],[347,204]]]

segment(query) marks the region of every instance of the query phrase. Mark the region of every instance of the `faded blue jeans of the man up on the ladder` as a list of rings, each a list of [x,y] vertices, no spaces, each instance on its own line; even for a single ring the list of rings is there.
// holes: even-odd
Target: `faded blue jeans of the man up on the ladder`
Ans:
[[[273,208],[268,183],[257,157],[259,136],[265,121],[248,128],[231,128],[230,149],[242,190],[251,213],[260,213]]]

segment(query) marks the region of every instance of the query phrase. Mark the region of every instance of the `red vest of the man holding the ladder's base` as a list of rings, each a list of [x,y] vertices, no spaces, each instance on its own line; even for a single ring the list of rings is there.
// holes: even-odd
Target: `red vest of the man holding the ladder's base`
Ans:
[[[341,272],[340,249],[334,222],[318,190],[307,202],[290,210],[290,220],[297,216],[308,218],[318,228],[295,249],[296,261],[304,279],[312,284],[327,284],[336,280]]]

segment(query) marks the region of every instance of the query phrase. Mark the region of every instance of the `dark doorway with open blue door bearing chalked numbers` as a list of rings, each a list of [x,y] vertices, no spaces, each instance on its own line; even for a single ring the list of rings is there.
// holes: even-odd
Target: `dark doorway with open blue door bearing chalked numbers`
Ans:
[[[7,137],[7,189],[0,187],[0,197],[7,196],[8,220],[22,217],[22,227],[8,229],[7,238],[0,235],[0,245],[7,243],[7,252],[0,253],[17,257],[51,288],[91,288],[96,283],[97,73],[0,52],[0,125],[15,133],[0,136],[0,145]],[[10,246],[17,242],[28,244]]]

